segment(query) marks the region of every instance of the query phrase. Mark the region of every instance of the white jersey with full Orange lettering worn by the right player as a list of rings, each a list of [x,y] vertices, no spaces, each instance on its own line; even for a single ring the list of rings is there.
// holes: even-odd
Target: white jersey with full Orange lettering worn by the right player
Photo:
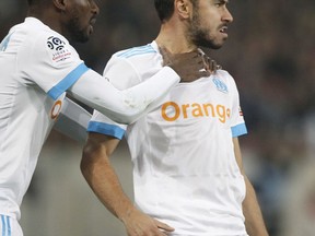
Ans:
[[[120,88],[145,81],[161,68],[158,51],[155,42],[119,51],[104,76]],[[226,71],[176,85],[154,110],[128,127],[95,111],[89,131],[118,139],[126,134],[136,204],[173,226],[171,235],[246,235],[245,182],[232,138],[247,131],[235,82]]]

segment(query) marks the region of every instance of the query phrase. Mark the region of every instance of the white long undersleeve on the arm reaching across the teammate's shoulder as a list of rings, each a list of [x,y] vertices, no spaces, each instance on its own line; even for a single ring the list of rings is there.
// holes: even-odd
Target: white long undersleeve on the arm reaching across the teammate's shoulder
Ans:
[[[166,95],[178,82],[178,74],[164,67],[143,83],[120,91],[98,73],[89,70],[68,92],[108,118],[129,123],[142,116],[149,104]]]

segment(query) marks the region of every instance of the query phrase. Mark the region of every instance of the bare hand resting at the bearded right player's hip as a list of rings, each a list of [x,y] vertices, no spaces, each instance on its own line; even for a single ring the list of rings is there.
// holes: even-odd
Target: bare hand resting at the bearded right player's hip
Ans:
[[[121,221],[125,224],[128,236],[166,236],[167,232],[174,231],[173,227],[138,210],[132,210]]]

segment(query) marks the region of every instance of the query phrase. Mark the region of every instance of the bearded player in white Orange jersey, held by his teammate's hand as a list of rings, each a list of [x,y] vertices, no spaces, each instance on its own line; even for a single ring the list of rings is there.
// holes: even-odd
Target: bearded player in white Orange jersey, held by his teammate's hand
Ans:
[[[104,76],[115,86],[147,81],[161,67],[159,47],[187,52],[219,49],[233,17],[228,0],[154,0],[162,26],[152,43],[116,52]],[[121,73],[124,74],[121,76]],[[246,126],[235,81],[214,70],[178,84],[131,126],[95,111],[81,169],[128,236],[267,236],[237,137]],[[135,204],[124,193],[109,156],[122,137],[133,162]]]

